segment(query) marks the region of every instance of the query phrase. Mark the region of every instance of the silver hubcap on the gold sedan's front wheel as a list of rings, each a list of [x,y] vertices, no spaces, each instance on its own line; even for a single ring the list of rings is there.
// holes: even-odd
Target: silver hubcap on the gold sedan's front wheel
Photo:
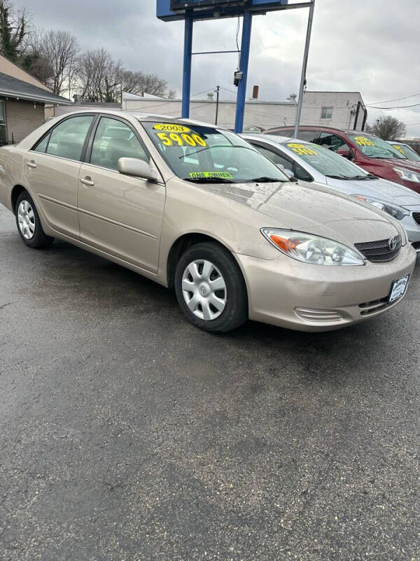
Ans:
[[[205,259],[188,265],[182,277],[182,293],[188,308],[204,321],[221,316],[228,298],[221,271]]]

